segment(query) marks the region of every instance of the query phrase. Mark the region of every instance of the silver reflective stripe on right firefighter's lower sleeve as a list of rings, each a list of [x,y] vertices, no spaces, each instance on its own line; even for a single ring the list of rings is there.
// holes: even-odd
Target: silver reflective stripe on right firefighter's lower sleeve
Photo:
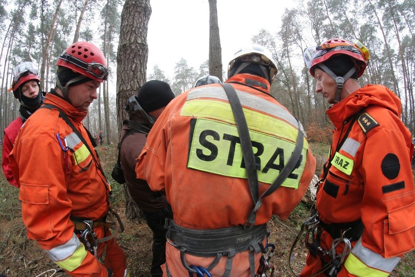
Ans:
[[[384,258],[372,250],[364,247],[361,238],[352,249],[352,253],[364,264],[384,272],[392,272],[400,261],[400,257]]]

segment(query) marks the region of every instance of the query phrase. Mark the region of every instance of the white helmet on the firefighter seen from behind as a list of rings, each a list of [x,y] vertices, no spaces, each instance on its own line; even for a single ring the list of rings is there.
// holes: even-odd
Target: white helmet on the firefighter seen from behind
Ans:
[[[264,73],[268,76],[267,79],[269,82],[272,82],[272,79],[274,79],[278,72],[277,62],[272,57],[271,52],[261,45],[252,44],[241,48],[234,54],[227,68],[227,78],[238,74],[250,63],[263,65],[267,71]]]

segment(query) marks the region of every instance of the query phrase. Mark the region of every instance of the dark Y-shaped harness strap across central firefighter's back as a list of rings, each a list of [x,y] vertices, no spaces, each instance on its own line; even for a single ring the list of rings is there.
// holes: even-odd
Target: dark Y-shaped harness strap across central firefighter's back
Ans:
[[[259,197],[258,193],[258,175],[256,172],[255,156],[252,150],[252,142],[249,136],[249,130],[246,123],[244,111],[242,109],[241,102],[235,89],[227,83],[221,83],[222,87],[226,92],[226,96],[229,100],[229,104],[232,108],[233,117],[235,118],[236,127],[238,129],[239,139],[241,141],[242,155],[245,161],[246,174],[248,177],[249,190],[251,192],[252,199],[254,200],[255,206],[251,211],[248,219],[245,222],[245,228],[251,228],[255,224],[256,213],[262,205],[262,198],[267,197],[275,190],[277,190],[288,175],[295,169],[295,166],[301,158],[302,147],[304,143],[304,134],[301,130],[301,124],[298,122],[298,137],[297,143],[294,148],[293,154],[289,158],[287,164],[281,170],[278,177],[268,187],[268,189]],[[298,120],[297,120],[298,121]]]

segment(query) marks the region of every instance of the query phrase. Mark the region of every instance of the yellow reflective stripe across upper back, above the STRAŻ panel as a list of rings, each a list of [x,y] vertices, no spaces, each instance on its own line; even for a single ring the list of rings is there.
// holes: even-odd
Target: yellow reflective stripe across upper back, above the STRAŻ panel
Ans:
[[[298,129],[291,124],[266,114],[243,108],[249,130],[275,135],[283,139],[296,141]],[[206,113],[208,112],[208,114]],[[235,124],[232,109],[228,102],[213,99],[194,99],[185,103],[181,116],[218,119]],[[304,139],[304,147],[308,147]]]

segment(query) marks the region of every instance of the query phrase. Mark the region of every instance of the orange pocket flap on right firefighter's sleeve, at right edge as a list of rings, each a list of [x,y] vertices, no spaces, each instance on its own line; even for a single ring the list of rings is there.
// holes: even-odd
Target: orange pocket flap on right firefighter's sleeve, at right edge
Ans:
[[[415,204],[392,212],[389,218],[389,234],[396,234],[415,226]]]

